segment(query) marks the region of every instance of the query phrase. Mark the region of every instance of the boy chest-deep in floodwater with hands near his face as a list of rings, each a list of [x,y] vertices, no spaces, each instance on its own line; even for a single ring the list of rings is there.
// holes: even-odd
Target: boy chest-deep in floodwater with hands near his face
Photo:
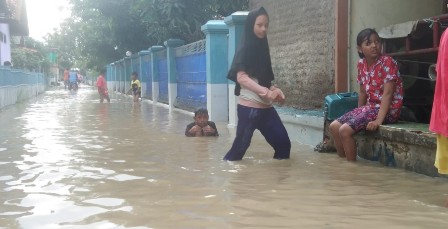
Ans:
[[[194,122],[187,125],[185,136],[202,137],[202,136],[219,136],[218,129],[212,121],[208,121],[207,109],[199,109],[194,112]]]

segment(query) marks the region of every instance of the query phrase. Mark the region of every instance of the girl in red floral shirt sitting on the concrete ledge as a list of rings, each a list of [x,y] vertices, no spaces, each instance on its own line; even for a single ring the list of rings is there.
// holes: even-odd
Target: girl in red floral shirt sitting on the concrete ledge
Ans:
[[[340,157],[356,161],[353,134],[373,131],[383,123],[394,123],[400,116],[403,85],[397,62],[381,54],[381,42],[374,29],[364,29],[356,38],[358,54],[358,108],[347,112],[330,124]]]

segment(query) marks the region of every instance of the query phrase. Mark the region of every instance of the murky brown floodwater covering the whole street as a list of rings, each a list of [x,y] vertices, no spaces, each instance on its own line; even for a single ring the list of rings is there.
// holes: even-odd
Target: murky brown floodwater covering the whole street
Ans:
[[[96,90],[50,90],[0,112],[0,228],[448,228],[448,180],[234,130],[187,138],[192,115]]]

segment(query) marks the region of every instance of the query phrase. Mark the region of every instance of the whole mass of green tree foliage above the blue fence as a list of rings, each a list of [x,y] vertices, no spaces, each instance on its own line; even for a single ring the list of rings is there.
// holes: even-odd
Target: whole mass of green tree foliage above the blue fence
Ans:
[[[170,38],[202,39],[201,25],[248,7],[248,0],[70,0],[72,16],[46,42],[62,68],[101,69]]]

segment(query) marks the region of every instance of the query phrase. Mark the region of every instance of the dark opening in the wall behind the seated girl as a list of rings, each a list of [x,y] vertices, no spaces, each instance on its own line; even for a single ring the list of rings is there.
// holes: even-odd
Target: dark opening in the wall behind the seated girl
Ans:
[[[441,15],[419,21],[407,37],[383,39],[383,52],[397,60],[403,79],[403,121],[430,121],[438,45],[447,26],[448,15]]]

